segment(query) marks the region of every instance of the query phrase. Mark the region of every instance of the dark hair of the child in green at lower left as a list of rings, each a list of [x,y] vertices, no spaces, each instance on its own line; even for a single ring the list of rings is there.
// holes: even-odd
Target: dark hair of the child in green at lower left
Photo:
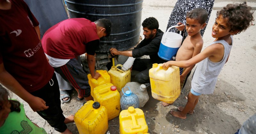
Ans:
[[[2,106],[4,105],[4,102],[8,101],[9,98],[9,93],[8,91],[0,85],[0,110],[2,109]],[[11,112],[16,111],[20,112],[20,102],[17,100],[9,100],[11,103]]]

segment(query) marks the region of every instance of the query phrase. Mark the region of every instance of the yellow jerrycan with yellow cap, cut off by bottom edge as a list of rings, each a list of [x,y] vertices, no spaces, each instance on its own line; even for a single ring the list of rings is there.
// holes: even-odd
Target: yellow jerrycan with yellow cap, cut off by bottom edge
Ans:
[[[148,125],[144,113],[139,108],[129,107],[121,111],[119,115],[120,134],[137,134],[138,132],[147,133]]]

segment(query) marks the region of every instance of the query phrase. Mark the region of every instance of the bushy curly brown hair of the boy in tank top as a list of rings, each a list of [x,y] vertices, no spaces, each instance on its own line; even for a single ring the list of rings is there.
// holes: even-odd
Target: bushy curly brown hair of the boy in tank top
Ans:
[[[247,6],[246,2],[241,4],[228,4],[226,7],[223,7],[220,11],[217,11],[217,18],[220,15],[228,19],[227,26],[230,28],[230,31],[238,31],[241,33],[243,30],[245,31],[252,23],[253,19],[253,11],[252,7]]]

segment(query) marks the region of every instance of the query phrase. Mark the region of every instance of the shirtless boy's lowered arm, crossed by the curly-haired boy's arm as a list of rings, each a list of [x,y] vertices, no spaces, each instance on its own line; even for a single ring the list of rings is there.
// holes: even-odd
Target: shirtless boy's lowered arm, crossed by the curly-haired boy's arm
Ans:
[[[193,55],[192,58],[196,55],[198,55],[201,50],[203,48],[203,43],[198,43],[195,45],[194,47],[194,51],[193,51]],[[183,82],[183,80],[185,79],[185,77],[188,75],[188,73],[195,67],[195,65],[192,65],[190,67],[188,67],[181,75],[180,75],[180,82]]]

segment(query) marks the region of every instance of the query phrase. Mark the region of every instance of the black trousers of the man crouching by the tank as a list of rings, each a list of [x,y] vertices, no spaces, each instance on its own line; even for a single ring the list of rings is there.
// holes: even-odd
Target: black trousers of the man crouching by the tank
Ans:
[[[140,71],[135,75],[135,81],[141,84],[149,83],[149,69],[152,68],[150,59],[135,59],[132,70]]]

